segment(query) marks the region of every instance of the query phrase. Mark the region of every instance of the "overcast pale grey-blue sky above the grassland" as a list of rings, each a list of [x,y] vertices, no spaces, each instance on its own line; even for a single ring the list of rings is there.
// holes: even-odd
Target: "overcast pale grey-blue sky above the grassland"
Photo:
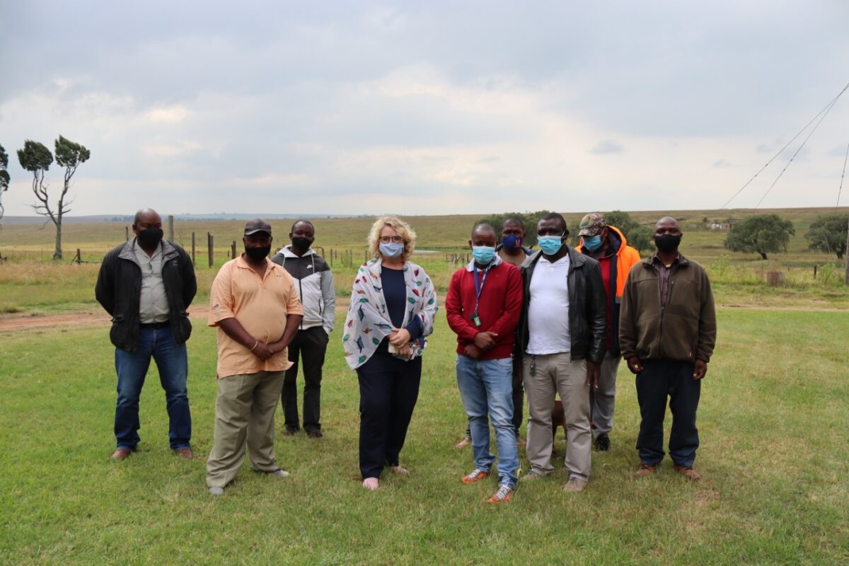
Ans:
[[[0,0],[0,53],[8,216],[59,134],[75,215],[714,209],[846,86],[849,3]],[[835,205],[847,126],[762,207]]]

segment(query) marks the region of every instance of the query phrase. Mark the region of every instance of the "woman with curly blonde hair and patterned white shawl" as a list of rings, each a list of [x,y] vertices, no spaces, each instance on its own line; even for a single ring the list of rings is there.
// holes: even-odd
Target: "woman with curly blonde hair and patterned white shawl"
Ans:
[[[421,356],[433,332],[436,291],[430,277],[409,261],[416,234],[394,216],[379,218],[368,234],[374,259],[360,266],[351,289],[342,346],[360,382],[360,473],[376,490],[388,466],[398,463],[419,397]]]

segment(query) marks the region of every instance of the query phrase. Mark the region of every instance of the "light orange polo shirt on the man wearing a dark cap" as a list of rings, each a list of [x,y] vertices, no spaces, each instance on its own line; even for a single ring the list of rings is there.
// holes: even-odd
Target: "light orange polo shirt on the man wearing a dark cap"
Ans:
[[[241,256],[225,263],[212,282],[208,320],[209,326],[218,327],[218,378],[280,372],[292,365],[288,348],[262,361],[224,333],[219,321],[235,318],[255,339],[270,344],[283,336],[290,314],[303,315],[304,310],[292,276],[283,267],[266,259],[265,277],[260,278]]]

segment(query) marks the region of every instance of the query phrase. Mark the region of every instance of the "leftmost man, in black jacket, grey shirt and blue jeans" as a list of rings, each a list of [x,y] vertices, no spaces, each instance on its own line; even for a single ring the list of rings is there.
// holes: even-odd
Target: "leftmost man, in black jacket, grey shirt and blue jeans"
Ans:
[[[94,289],[112,316],[118,373],[112,459],[123,460],[136,450],[138,397],[153,357],[165,389],[171,450],[191,460],[185,343],[192,333],[186,308],[197,292],[194,266],[183,248],[162,239],[162,219],[155,210],[139,210],[132,232],[135,238],[106,254]]]

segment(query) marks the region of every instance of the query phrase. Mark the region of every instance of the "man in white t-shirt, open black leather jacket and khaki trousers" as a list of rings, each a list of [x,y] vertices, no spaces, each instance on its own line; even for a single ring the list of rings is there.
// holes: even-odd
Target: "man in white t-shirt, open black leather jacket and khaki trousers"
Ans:
[[[604,359],[606,305],[599,262],[565,244],[566,221],[556,212],[537,224],[540,253],[521,266],[525,300],[517,330],[528,398],[527,457],[522,480],[554,471],[551,413],[559,394],[565,413],[567,491],[589,480],[593,434],[588,387],[598,388]]]

